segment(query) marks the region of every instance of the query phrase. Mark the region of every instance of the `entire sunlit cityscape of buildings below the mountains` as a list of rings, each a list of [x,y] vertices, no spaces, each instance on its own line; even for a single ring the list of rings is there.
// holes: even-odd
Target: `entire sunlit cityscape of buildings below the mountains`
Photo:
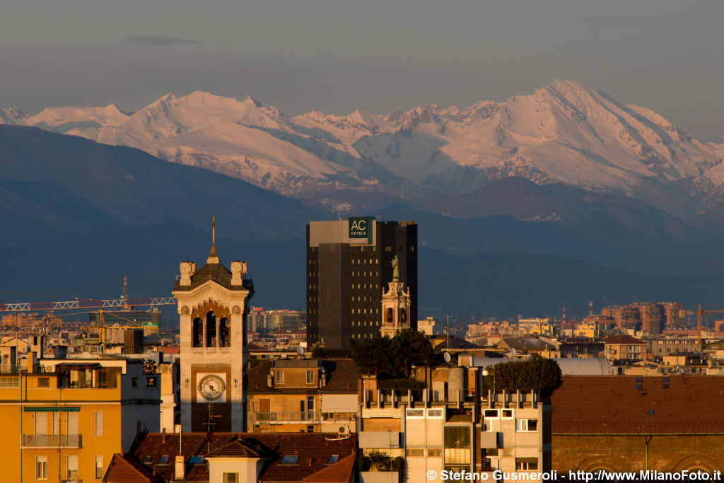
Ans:
[[[418,319],[416,224],[369,217],[308,225],[307,311],[255,308],[247,264],[224,266],[215,222],[211,233],[206,263],[181,261],[164,302],[176,304],[177,330],[162,329],[157,310],[123,305],[75,322],[2,314],[8,481],[724,469],[724,321],[699,333],[687,315],[702,309],[641,302],[594,314],[589,303],[581,319],[471,319],[463,335],[454,318]],[[403,337],[376,339],[400,334],[424,356]],[[360,356],[354,340],[388,345]],[[366,365],[397,357],[394,374]]]

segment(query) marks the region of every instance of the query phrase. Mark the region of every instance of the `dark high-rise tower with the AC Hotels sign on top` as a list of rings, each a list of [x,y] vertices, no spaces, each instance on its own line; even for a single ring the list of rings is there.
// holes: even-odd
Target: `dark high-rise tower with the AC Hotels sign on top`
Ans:
[[[392,282],[397,256],[400,282],[410,288],[410,322],[417,328],[417,225],[350,217],[307,225],[307,342],[347,349],[350,339],[379,335],[382,290]]]

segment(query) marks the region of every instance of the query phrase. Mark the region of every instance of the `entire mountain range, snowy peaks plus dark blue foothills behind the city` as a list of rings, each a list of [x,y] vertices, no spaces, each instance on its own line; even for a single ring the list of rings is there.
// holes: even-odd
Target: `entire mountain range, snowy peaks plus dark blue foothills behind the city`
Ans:
[[[124,273],[165,295],[212,213],[222,261],[249,261],[274,308],[304,308],[304,226],[331,211],[418,223],[421,314],[717,306],[724,288],[723,145],[573,81],[382,116],[196,92],[0,120],[4,301],[111,298]]]

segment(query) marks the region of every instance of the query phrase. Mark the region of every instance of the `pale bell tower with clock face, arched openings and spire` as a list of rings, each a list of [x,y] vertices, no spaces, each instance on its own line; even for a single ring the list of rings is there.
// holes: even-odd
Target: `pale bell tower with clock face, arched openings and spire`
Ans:
[[[211,218],[211,252],[196,270],[180,263],[173,295],[181,335],[181,425],[184,431],[246,430],[246,315],[254,286],[245,261],[228,270],[216,253]]]

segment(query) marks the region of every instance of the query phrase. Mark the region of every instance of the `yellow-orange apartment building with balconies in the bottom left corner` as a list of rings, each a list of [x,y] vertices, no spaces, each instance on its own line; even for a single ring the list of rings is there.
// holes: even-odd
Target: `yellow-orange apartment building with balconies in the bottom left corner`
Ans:
[[[159,430],[159,374],[143,361],[51,359],[0,374],[7,482],[101,481],[114,453]]]

